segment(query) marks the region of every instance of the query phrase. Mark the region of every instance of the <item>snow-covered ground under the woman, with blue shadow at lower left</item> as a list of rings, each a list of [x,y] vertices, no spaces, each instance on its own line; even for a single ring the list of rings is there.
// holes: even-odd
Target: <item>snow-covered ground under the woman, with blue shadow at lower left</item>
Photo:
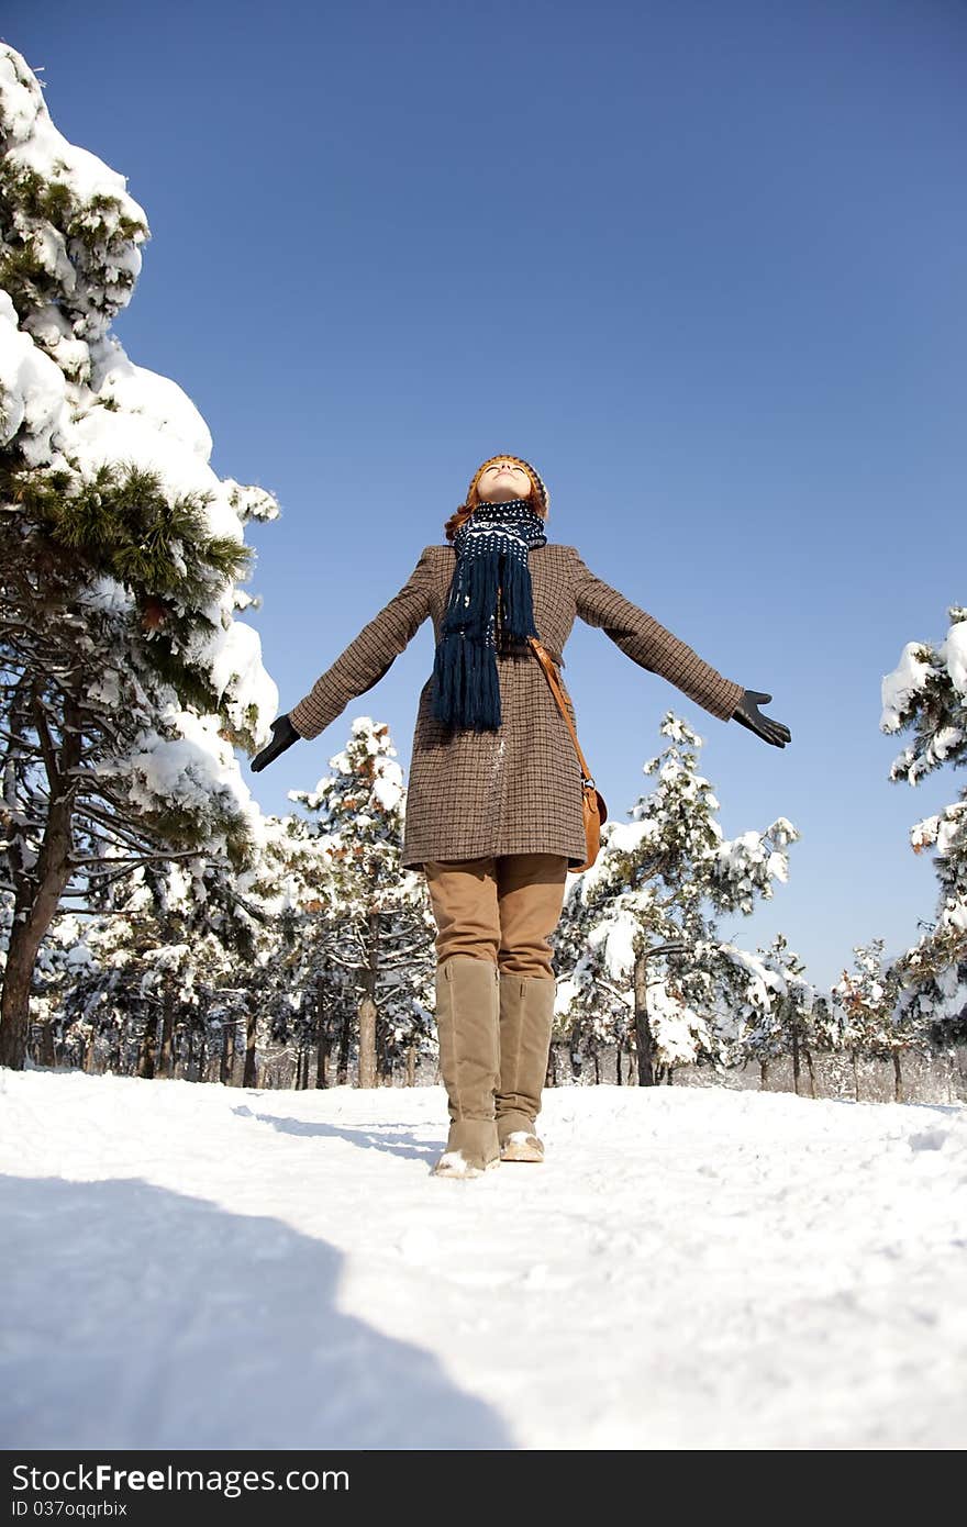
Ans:
[[[959,1448],[967,1109],[0,1070],[6,1448]]]

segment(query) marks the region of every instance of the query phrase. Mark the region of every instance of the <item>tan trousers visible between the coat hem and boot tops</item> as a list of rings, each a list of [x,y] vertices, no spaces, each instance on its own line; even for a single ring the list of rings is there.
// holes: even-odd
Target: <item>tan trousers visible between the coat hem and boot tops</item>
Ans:
[[[550,935],[564,906],[567,863],[564,854],[426,860],[437,964],[472,954],[506,974],[553,980]]]

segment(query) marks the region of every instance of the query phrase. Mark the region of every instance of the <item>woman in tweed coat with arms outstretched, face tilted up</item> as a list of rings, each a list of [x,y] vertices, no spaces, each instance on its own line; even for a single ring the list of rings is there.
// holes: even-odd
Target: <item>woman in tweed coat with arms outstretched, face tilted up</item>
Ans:
[[[438,1176],[538,1162],[555,971],[550,936],[570,869],[585,861],[581,767],[547,676],[576,617],[721,721],[785,747],[744,690],[547,539],[550,495],[521,457],[490,457],[403,588],[359,632],[252,760],[315,738],[390,669],[429,615],[434,670],[420,690],[402,864],[422,869],[437,924],[437,1029],[449,1104]],[[573,705],[568,709],[574,719]]]

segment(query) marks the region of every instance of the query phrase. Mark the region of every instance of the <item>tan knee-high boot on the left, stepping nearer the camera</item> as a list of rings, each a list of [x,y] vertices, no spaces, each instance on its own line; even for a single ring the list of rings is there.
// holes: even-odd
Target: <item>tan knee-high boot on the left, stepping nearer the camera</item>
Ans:
[[[493,1092],[500,1080],[500,971],[493,960],[449,954],[437,965],[440,1075],[451,1128],[438,1177],[478,1177],[500,1165]]]

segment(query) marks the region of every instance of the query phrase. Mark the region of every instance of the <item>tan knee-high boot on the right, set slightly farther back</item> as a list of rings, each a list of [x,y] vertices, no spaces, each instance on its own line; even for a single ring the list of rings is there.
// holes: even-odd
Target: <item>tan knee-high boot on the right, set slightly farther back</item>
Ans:
[[[496,1136],[501,1161],[544,1161],[535,1133],[547,1075],[558,982],[547,976],[500,979],[500,1081]]]

